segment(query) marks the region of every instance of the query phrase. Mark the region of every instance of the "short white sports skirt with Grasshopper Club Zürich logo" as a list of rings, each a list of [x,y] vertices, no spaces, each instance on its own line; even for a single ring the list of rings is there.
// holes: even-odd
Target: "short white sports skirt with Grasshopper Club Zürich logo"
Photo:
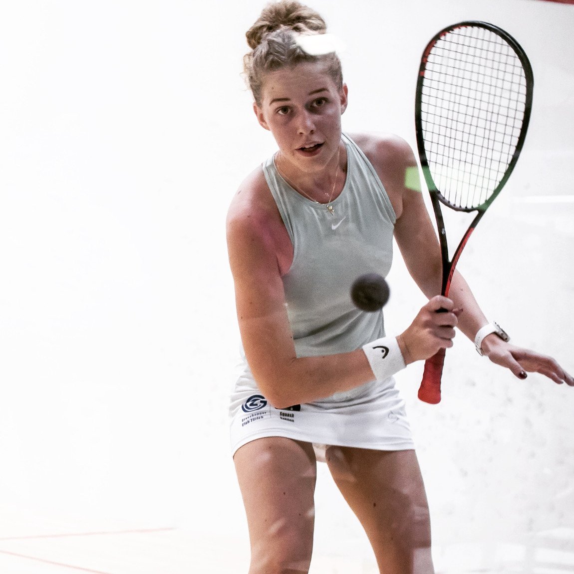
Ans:
[[[230,419],[233,454],[252,440],[272,436],[312,443],[317,460],[324,460],[329,445],[381,451],[414,448],[405,401],[393,377],[324,400],[276,409],[246,369],[232,393]]]

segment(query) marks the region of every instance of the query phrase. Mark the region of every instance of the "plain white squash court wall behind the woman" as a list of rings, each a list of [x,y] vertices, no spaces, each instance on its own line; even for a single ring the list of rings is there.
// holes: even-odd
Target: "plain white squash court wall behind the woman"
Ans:
[[[574,195],[574,7],[312,5],[347,44],[344,129],[412,145],[418,60],[434,33],[486,20],[525,48],[536,84],[523,156],[460,269],[517,342],[574,371],[574,204],[529,203]],[[224,217],[274,150],[239,75],[261,6],[3,7],[0,506],[13,513],[10,535],[16,517],[38,530],[48,517],[246,537],[227,444],[238,333]],[[390,281],[387,324],[398,331],[422,297],[398,260]],[[399,378],[437,543],[574,528],[574,391],[517,381],[462,337],[448,355],[440,406],[416,401],[418,366]],[[326,475],[320,486],[317,544],[335,552],[360,532]]]

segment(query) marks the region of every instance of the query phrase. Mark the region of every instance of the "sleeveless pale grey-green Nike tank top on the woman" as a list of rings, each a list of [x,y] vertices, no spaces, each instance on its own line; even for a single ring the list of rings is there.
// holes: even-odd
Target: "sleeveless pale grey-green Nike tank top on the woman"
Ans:
[[[263,173],[293,243],[283,276],[297,356],[354,351],[385,335],[383,311],[366,313],[350,297],[363,273],[389,273],[396,220],[373,165],[346,134],[347,179],[331,214],[297,193],[278,173],[273,157]]]

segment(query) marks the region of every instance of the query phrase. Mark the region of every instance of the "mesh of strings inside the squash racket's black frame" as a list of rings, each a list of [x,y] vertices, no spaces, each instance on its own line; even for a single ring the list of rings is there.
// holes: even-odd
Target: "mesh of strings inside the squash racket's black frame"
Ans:
[[[513,159],[526,108],[514,49],[484,28],[457,28],[427,56],[421,124],[430,172],[459,208],[484,204]]]

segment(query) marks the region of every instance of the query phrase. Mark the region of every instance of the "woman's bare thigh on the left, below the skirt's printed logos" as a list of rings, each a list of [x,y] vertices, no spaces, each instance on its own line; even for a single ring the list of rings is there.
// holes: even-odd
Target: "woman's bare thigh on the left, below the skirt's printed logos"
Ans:
[[[258,439],[239,448],[234,462],[249,525],[249,574],[308,572],[317,478],[312,445]]]

